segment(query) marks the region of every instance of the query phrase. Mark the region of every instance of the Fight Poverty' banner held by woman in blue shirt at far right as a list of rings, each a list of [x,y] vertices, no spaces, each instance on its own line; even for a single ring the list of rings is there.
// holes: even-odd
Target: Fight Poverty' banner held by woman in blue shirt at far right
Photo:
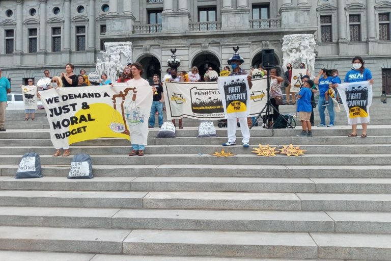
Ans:
[[[348,116],[348,124],[368,123],[372,104],[372,85],[369,81],[339,84],[337,89]]]

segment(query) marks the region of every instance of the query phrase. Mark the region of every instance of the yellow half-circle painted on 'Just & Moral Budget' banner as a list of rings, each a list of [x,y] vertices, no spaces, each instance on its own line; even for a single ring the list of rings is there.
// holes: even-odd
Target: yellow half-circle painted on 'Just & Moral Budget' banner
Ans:
[[[92,103],[89,107],[89,109],[76,112],[75,117],[80,118],[81,115],[90,114],[95,120],[72,125],[72,128],[70,127],[69,130],[73,131],[75,129],[76,131],[71,132],[71,135],[69,136],[69,144],[101,137],[123,138],[130,140],[129,135],[116,133],[110,129],[110,124],[113,123],[112,121],[124,124],[122,115],[119,111],[115,110],[106,103]],[[83,131],[77,131],[78,127],[83,127]]]

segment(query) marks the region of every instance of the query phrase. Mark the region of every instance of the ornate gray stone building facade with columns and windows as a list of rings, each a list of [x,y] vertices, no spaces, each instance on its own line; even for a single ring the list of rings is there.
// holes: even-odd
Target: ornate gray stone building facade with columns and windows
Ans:
[[[360,55],[380,96],[382,73],[391,70],[390,13],[391,1],[383,0],[2,0],[0,67],[16,92],[25,78],[40,79],[44,69],[58,75],[68,62],[75,73],[95,71],[105,42],[129,41],[132,61],[148,77],[165,74],[171,48],[179,70],[202,72],[227,65],[239,46],[248,69],[262,62],[265,48],[282,65],[284,35],[313,34],[315,72],[344,75]]]

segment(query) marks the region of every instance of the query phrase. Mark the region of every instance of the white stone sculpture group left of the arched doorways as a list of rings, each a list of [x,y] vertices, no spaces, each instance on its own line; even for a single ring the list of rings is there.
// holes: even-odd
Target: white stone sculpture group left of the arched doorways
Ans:
[[[99,76],[106,73],[107,79],[113,82],[122,68],[132,62],[132,42],[108,42],[104,47],[106,51],[100,51],[103,61],[97,59],[95,72]]]

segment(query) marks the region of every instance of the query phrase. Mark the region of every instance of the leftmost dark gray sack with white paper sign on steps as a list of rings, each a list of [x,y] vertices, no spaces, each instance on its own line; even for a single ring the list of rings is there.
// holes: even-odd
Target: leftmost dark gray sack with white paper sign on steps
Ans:
[[[15,178],[43,177],[41,171],[41,158],[35,152],[25,153],[19,163]]]

